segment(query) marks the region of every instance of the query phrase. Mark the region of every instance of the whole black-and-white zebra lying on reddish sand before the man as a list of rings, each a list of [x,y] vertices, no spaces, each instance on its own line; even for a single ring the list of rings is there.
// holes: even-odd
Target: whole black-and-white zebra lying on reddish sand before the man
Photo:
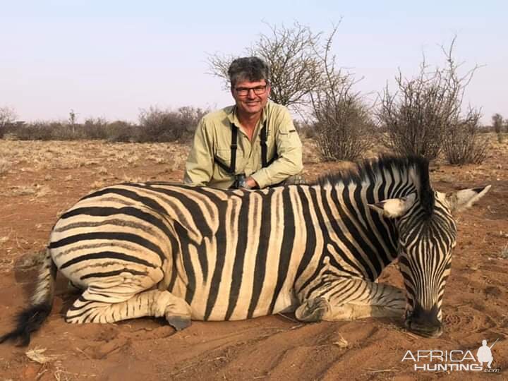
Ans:
[[[400,317],[442,333],[456,222],[490,186],[440,193],[421,157],[380,157],[308,185],[221,190],[123,183],[81,198],[52,229],[30,305],[12,332],[30,342],[59,270],[83,292],[66,322],[165,317],[302,322]],[[402,289],[376,282],[394,260]]]

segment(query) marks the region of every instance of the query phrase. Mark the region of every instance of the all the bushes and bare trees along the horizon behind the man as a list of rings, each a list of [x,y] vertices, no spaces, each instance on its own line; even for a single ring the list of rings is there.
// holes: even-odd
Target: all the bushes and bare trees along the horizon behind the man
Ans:
[[[270,34],[260,35],[243,55],[260,56],[270,64],[271,98],[294,111],[298,130],[315,140],[322,161],[356,160],[376,146],[399,155],[441,156],[449,164],[478,164],[489,147],[484,132],[495,131],[502,143],[508,126],[500,114],[492,116],[492,126],[481,126],[480,107],[464,107],[464,92],[478,66],[464,72],[464,66],[456,63],[455,39],[442,47],[442,66],[430,66],[424,57],[416,75],[394,73],[395,88],[387,86],[377,93],[375,104],[368,104],[354,90],[358,80],[341,69],[332,54],[337,25],[329,35],[298,23],[270,28]],[[225,87],[227,68],[234,58],[209,56],[211,73],[222,78]],[[17,121],[13,109],[4,107],[0,108],[0,138],[188,144],[207,111],[192,106],[150,107],[132,123],[100,118],[78,121],[71,110],[67,121],[25,123]],[[0,171],[6,166],[0,158]]]

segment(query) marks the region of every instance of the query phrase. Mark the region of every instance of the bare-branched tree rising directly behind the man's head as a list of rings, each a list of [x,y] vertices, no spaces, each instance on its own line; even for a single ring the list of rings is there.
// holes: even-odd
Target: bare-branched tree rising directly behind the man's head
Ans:
[[[316,56],[320,51],[322,32],[314,33],[299,23],[292,27],[268,25],[270,33],[261,34],[257,42],[246,49],[249,56],[263,59],[271,71],[270,98],[286,107],[301,109],[309,104],[310,92],[320,86],[322,63]],[[224,79],[229,89],[229,65],[236,56],[213,54],[208,62],[212,75]]]

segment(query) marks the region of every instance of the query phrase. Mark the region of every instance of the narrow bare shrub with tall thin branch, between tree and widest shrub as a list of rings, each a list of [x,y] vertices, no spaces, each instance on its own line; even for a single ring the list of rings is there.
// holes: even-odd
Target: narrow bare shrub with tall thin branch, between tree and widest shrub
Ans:
[[[356,160],[372,146],[373,123],[358,92],[353,92],[353,76],[335,68],[330,56],[334,28],[325,44],[324,54],[316,52],[323,68],[320,86],[310,93],[315,119],[315,139],[322,159]]]

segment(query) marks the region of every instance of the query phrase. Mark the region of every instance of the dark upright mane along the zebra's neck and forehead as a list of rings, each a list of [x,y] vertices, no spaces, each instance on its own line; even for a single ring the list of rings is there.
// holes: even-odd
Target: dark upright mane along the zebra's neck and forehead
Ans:
[[[418,198],[424,212],[430,217],[433,214],[435,196],[430,185],[429,162],[428,159],[420,156],[391,156],[381,155],[377,159],[368,159],[358,162],[354,167],[342,169],[330,174],[321,176],[314,185],[325,188],[334,187],[339,184],[348,186],[349,184],[376,183],[382,181],[383,175],[390,176],[390,170],[393,173],[398,172],[404,175],[409,174],[413,169],[416,179],[415,186],[418,189]]]

